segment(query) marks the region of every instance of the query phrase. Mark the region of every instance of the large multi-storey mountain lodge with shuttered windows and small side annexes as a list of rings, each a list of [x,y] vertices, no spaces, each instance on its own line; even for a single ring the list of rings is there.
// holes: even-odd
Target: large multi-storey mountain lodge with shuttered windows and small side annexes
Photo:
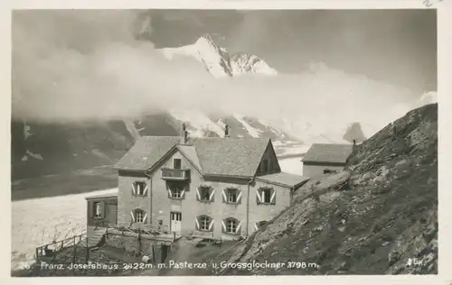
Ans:
[[[87,198],[88,234],[101,222],[237,239],[277,216],[307,179],[281,172],[271,140],[228,132],[139,138],[116,165],[118,194]]]

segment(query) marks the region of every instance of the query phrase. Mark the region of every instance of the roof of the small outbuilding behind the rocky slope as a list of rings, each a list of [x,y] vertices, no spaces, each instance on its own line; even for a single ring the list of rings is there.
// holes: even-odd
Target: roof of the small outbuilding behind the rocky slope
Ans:
[[[314,143],[301,161],[345,163],[353,144]]]

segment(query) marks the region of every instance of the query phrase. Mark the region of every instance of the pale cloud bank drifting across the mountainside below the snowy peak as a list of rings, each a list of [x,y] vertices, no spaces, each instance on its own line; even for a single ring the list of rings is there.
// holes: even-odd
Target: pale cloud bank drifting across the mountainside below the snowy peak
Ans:
[[[134,31],[152,32],[149,23],[137,11],[14,12],[14,117],[108,119],[177,107],[380,126],[410,108],[408,90],[321,63],[300,74],[215,79],[197,60],[167,60],[138,41]]]

